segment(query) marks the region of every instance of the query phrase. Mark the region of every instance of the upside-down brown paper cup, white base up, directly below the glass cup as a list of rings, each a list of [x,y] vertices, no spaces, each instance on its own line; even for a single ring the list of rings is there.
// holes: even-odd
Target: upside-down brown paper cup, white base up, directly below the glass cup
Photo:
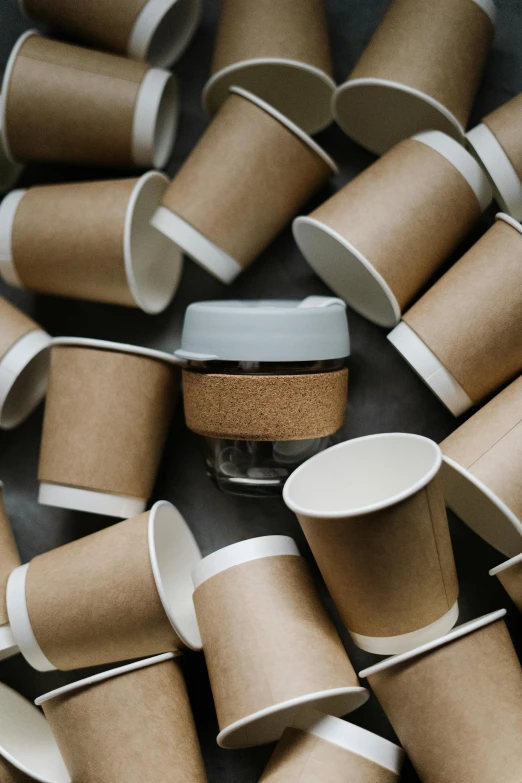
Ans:
[[[367,700],[291,538],[225,547],[193,579],[218,745],[273,742],[306,707],[340,716]]]

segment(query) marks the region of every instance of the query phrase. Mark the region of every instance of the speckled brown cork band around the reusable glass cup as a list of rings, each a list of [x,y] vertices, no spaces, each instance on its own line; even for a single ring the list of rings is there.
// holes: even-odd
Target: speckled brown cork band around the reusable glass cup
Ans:
[[[185,419],[193,432],[233,440],[302,440],[344,423],[348,370],[307,375],[183,371]]]

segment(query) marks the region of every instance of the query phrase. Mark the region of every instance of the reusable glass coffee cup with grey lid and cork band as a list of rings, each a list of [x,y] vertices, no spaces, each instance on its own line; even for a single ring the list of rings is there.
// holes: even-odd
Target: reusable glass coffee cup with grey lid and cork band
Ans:
[[[197,302],[179,359],[187,426],[225,492],[279,495],[301,462],[344,423],[346,305],[310,296]]]

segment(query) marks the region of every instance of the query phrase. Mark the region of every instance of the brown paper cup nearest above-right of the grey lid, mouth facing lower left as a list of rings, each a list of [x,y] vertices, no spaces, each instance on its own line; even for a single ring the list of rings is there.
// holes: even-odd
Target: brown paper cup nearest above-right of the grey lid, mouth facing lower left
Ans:
[[[400,142],[310,216],[296,218],[293,231],[336,294],[391,327],[491,200],[473,157],[444,133],[428,131]]]

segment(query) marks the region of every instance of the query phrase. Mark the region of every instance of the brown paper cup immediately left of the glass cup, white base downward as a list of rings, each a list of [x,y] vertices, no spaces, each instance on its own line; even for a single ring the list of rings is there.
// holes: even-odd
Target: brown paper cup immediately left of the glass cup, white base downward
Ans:
[[[179,359],[105,340],[53,341],[38,480],[47,506],[131,517],[152,495]]]

